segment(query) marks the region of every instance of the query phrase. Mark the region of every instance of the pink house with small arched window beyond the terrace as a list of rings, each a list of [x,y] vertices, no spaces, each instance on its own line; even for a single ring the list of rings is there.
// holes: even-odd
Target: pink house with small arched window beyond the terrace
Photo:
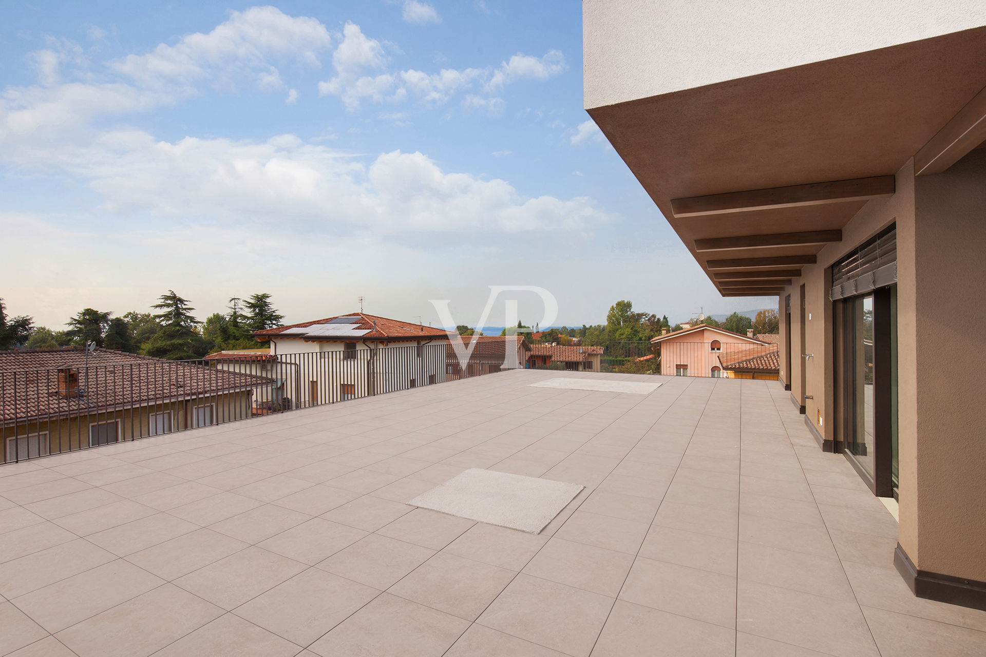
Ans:
[[[757,346],[765,352],[776,350],[776,345],[769,346],[752,335],[740,335],[707,324],[660,335],[651,343],[661,346],[661,373],[669,376],[733,377],[734,374],[724,367],[724,361],[731,361],[731,355],[755,350]]]

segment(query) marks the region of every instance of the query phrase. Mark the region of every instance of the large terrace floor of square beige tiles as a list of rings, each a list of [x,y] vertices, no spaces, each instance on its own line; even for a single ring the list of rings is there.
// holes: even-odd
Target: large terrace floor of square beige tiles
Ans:
[[[558,375],[0,466],[0,654],[986,654],[776,383]],[[539,536],[402,503],[469,467],[588,488]]]

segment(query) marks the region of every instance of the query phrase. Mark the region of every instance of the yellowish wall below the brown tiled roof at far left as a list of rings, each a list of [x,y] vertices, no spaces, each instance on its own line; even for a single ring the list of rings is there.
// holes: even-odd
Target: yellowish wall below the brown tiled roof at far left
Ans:
[[[117,435],[120,436],[121,440],[144,438],[151,435],[151,415],[171,413],[172,430],[180,430],[192,426],[193,407],[212,405],[214,424],[232,422],[251,417],[251,399],[248,391],[234,392],[227,395],[165,402],[107,413],[93,413],[89,416],[43,419],[21,424],[17,427],[3,427],[0,429],[0,434],[3,435],[3,459],[7,458],[8,439],[15,436],[23,437],[35,433],[47,433],[47,453],[57,454],[89,447],[89,427],[93,424],[116,422],[118,423]]]

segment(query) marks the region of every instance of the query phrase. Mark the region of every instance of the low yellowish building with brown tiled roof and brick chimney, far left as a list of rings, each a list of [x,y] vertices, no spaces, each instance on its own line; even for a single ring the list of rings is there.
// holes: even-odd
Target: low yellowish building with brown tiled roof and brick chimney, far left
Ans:
[[[0,352],[4,460],[249,418],[271,383],[108,349]]]

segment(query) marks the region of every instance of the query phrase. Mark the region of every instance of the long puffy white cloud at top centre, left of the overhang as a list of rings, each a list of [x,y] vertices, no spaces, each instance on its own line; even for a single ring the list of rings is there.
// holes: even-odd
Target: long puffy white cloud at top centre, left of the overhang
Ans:
[[[332,55],[335,77],[318,83],[319,96],[337,96],[350,111],[359,109],[364,100],[399,103],[415,99],[427,106],[448,102],[465,90],[482,91],[463,101],[464,108],[482,106],[487,113],[502,113],[504,101],[496,98],[503,88],[518,80],[546,80],[565,68],[561,52],[551,50],[543,57],[516,54],[493,67],[442,69],[426,73],[414,69],[390,72],[383,44],[363,33],[358,25],[347,23],[342,40]],[[478,89],[477,89],[478,88]]]

